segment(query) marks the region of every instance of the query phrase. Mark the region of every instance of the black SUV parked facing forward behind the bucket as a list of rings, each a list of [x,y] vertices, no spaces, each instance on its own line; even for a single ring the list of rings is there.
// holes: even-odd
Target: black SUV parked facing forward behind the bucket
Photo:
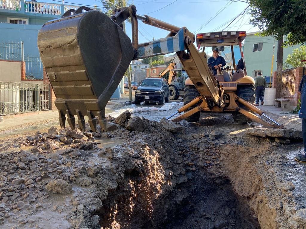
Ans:
[[[169,86],[165,78],[147,78],[135,91],[135,104],[141,101],[164,104],[169,101]]]

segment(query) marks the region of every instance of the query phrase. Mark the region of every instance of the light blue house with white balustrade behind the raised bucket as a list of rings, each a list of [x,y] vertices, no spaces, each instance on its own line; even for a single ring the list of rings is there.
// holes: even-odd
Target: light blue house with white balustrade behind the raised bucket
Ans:
[[[61,17],[76,5],[24,0],[0,0],[0,60],[25,61],[29,79],[43,78],[37,36],[42,25]],[[1,75],[0,75],[1,77]],[[0,78],[0,81],[4,81]],[[112,98],[120,98],[123,81]]]

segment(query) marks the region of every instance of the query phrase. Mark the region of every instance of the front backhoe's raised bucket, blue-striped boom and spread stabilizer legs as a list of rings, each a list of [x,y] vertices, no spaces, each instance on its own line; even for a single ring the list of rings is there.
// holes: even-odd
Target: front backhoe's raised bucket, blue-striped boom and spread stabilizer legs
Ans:
[[[122,30],[122,23],[128,18],[132,24],[132,42]],[[138,20],[170,33],[166,38],[139,44]],[[222,45],[241,44],[244,36],[245,32],[228,35]],[[111,17],[81,6],[45,23],[39,31],[38,48],[56,96],[60,125],[65,128],[67,116],[69,126],[74,129],[76,115],[80,129],[84,130],[87,115],[92,131],[96,131],[97,123],[101,131],[106,131],[106,103],[130,62],[176,52],[189,76],[189,86],[194,88],[184,95],[190,101],[177,111],[180,115],[172,121],[178,122],[199,111],[239,112],[267,127],[281,128],[282,125],[248,102],[254,82],[243,75],[239,80],[221,84],[207,66],[206,53],[199,52],[193,44],[195,41],[196,36],[186,27],[137,15],[134,5],[116,9]]]

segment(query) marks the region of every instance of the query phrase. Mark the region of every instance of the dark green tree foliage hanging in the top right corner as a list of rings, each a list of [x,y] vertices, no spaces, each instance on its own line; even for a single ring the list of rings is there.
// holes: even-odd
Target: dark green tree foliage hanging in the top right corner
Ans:
[[[285,45],[306,42],[305,0],[247,0],[251,6],[250,23],[259,27],[261,35],[277,40],[288,35]]]

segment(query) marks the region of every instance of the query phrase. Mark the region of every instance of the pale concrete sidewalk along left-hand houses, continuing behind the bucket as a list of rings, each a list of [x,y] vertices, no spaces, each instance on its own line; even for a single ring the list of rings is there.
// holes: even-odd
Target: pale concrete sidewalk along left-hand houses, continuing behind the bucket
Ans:
[[[134,96],[133,96],[134,97]],[[105,107],[105,113],[110,114],[114,110],[132,104],[129,101],[129,94],[121,94],[120,99],[110,99]],[[8,133],[16,129],[24,129],[35,125],[44,125],[51,122],[58,122],[58,111],[37,111],[28,112],[18,115],[3,116],[3,121],[0,122],[0,134]],[[68,123],[66,122],[66,125]]]

